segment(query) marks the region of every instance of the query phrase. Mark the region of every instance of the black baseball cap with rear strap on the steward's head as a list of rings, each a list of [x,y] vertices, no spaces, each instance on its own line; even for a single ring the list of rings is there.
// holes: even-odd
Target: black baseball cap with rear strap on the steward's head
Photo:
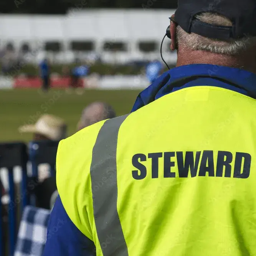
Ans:
[[[221,14],[232,26],[218,26],[195,18],[202,12]],[[187,33],[218,40],[256,36],[256,0],[178,0],[175,22]]]

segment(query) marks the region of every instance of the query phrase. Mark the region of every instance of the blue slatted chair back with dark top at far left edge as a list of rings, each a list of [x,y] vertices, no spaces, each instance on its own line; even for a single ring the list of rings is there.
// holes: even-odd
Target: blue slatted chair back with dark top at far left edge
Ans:
[[[16,223],[16,214],[15,214],[15,208],[17,206],[17,203],[20,199],[17,198],[15,200],[15,188],[14,188],[14,182],[13,182],[13,167],[15,166],[21,166],[22,172],[23,172],[23,181],[21,186],[21,197],[22,200],[22,207],[21,211],[27,204],[27,191],[26,191],[26,164],[28,161],[28,155],[26,150],[26,144],[22,142],[17,143],[1,143],[0,144],[0,168],[7,168],[8,169],[8,178],[9,178],[9,197],[10,202],[8,204],[8,246],[9,246],[9,255],[13,256],[14,250],[15,250],[15,243],[16,243],[16,236],[17,236],[17,223]],[[2,198],[2,196],[1,196]],[[2,209],[2,203],[1,210]],[[2,225],[2,211],[1,214],[1,226],[0,226],[0,233],[1,233],[1,239],[0,239],[0,252],[3,254],[3,250],[5,247],[5,244],[3,244],[3,225]],[[3,254],[4,255],[4,254]]]

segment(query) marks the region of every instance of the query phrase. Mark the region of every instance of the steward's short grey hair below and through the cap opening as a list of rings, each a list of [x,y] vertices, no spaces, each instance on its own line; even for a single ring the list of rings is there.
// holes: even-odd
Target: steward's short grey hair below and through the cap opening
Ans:
[[[218,13],[203,12],[196,16],[199,20],[220,26],[232,26],[232,22]],[[237,55],[246,51],[256,44],[256,37],[245,37],[242,39],[230,39],[228,41],[219,41],[206,38],[195,33],[187,33],[180,26],[177,26],[177,43],[186,46],[193,51],[210,51],[224,55]]]

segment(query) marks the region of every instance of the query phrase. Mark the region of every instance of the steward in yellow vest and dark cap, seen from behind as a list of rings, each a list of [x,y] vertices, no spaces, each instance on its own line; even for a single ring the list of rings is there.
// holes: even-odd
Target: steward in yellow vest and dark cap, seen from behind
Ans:
[[[43,256],[256,255],[255,14],[178,0],[176,67],[130,114],[59,143],[48,229],[65,225]]]

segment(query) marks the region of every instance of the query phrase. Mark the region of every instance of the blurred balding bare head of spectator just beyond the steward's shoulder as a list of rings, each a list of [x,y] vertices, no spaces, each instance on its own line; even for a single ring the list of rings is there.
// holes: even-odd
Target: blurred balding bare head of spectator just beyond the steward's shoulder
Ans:
[[[93,102],[89,104],[82,112],[78,123],[78,130],[95,124],[99,121],[116,117],[113,107],[105,102]]]

